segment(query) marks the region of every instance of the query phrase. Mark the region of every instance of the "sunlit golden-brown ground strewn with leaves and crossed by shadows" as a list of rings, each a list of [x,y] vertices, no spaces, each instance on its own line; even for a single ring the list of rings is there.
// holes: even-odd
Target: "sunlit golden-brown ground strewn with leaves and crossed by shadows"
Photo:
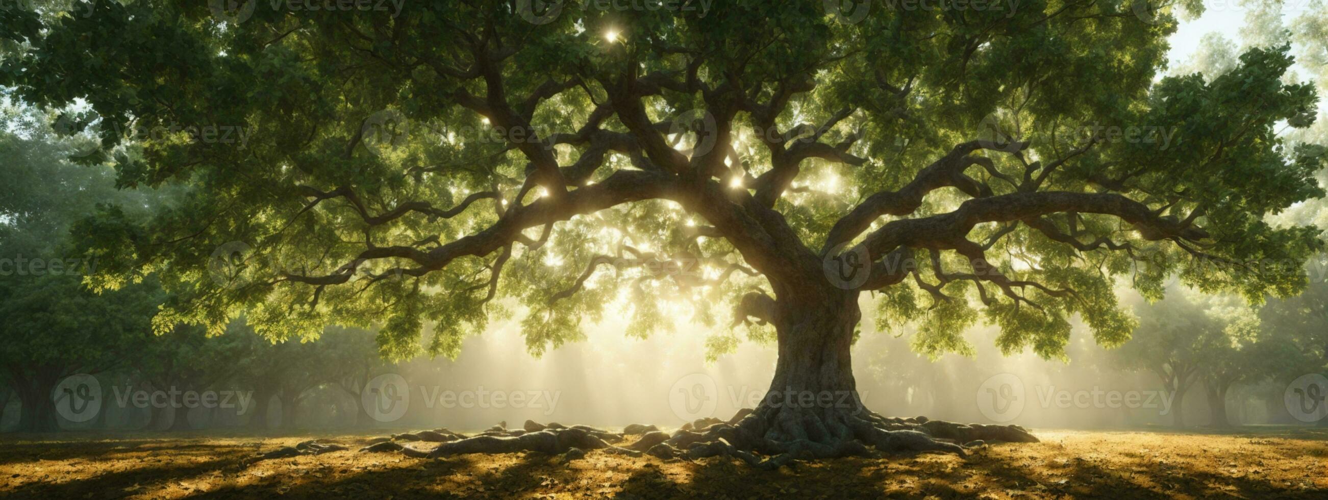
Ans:
[[[590,452],[446,460],[331,452],[252,461],[321,438],[357,448],[373,435],[0,435],[0,497],[179,499],[822,499],[822,497],[1328,497],[1328,430],[1236,434],[1035,430],[968,459],[888,455],[802,463],[776,472]],[[420,443],[430,448],[430,443]]]

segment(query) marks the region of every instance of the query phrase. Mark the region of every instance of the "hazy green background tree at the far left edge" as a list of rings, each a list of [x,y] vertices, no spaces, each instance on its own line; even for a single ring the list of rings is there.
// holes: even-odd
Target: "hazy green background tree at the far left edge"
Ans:
[[[57,138],[32,108],[7,100],[3,120],[0,154],[9,160],[0,186],[0,364],[21,402],[19,428],[53,431],[56,384],[124,366],[151,339],[162,302],[151,279],[110,294],[86,290],[82,281],[97,262],[74,249],[70,227],[100,209],[143,217],[162,193],[120,191],[110,168],[70,164],[78,140]]]

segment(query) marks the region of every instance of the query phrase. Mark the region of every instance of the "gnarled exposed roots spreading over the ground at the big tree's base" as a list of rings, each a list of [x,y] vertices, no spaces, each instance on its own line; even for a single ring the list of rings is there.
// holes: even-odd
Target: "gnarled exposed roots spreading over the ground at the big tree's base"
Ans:
[[[637,438],[629,444],[616,445],[615,443],[624,441],[624,435]],[[425,451],[397,443],[402,440],[441,444]],[[580,459],[587,451],[599,449],[629,456],[651,455],[665,460],[729,456],[757,468],[776,469],[795,460],[878,456],[882,452],[968,456],[969,449],[989,441],[1036,443],[1037,438],[1019,426],[957,424],[922,416],[884,418],[869,411],[841,408],[770,407],[742,410],[728,422],[699,419],[673,434],[643,424],[628,426],[623,434],[616,434],[590,426],[546,426],[526,420],[519,430],[509,430],[506,423],[501,423],[469,438],[445,428],[398,434],[392,440],[381,440],[360,451],[400,452],[430,459],[465,453],[539,452],[568,461]]]

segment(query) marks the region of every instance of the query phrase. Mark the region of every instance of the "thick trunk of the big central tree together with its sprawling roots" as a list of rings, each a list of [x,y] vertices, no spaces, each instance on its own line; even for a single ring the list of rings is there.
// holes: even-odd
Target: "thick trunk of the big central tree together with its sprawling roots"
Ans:
[[[799,294],[794,299],[761,302],[762,319],[776,327],[778,360],[765,399],[728,422],[700,419],[672,435],[655,436],[632,448],[600,441],[611,434],[584,426],[546,427],[527,422],[521,434],[502,430],[441,444],[422,452],[397,443],[378,443],[367,451],[400,451],[408,456],[454,453],[506,453],[542,451],[560,453],[568,447],[610,449],[659,457],[689,459],[726,455],[761,468],[778,468],[790,460],[895,451],[939,451],[965,455],[968,445],[985,441],[1033,443],[1037,438],[1019,426],[955,424],[924,418],[886,418],[869,411],[853,378],[850,348],[861,318],[855,291],[830,290]],[[429,431],[438,434],[436,431]],[[592,438],[587,438],[592,434]],[[463,438],[463,436],[462,436]],[[616,436],[620,439],[620,436]],[[765,455],[768,457],[761,457]]]

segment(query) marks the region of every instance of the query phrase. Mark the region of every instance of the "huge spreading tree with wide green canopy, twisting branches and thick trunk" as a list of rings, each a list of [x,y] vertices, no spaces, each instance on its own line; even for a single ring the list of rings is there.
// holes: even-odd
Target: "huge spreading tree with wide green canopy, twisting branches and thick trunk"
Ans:
[[[242,314],[274,339],[381,326],[382,352],[404,358],[454,355],[505,312],[499,297],[535,354],[611,305],[635,335],[672,311],[728,315],[776,342],[772,394],[853,395],[766,402],[708,436],[742,449],[959,449],[857,402],[865,291],[886,322],[926,324],[924,352],[967,348],[981,319],[1005,352],[1054,358],[1072,315],[1100,343],[1129,336],[1117,278],[1155,299],[1178,273],[1256,302],[1299,291],[1323,246],[1263,218],[1324,194],[1324,149],[1275,128],[1316,116],[1313,85],[1283,81],[1288,49],[1157,80],[1174,20],[1125,4],[78,7],[7,12],[17,55],[0,82],[100,130],[86,157],[121,186],[195,188],[149,223],[89,230],[98,287],[171,270],[161,330],[220,332]],[[223,142],[210,125],[254,133]],[[137,160],[118,154],[122,130],[165,133],[135,134]],[[208,273],[218,249],[238,257]]]

